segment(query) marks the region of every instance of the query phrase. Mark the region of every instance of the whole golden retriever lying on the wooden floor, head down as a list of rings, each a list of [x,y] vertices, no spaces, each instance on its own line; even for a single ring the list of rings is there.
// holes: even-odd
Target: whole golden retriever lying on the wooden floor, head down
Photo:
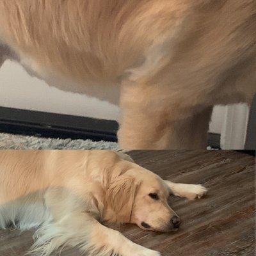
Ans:
[[[36,228],[29,253],[50,255],[64,245],[86,255],[156,256],[102,223],[177,230],[168,196],[200,198],[201,185],[176,184],[107,150],[2,150],[0,227]]]

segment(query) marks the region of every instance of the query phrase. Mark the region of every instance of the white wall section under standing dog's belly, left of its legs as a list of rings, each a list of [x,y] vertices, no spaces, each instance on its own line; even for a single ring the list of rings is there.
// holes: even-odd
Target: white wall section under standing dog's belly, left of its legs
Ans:
[[[50,87],[10,60],[0,68],[0,106],[109,120],[116,120],[119,113],[108,102]]]

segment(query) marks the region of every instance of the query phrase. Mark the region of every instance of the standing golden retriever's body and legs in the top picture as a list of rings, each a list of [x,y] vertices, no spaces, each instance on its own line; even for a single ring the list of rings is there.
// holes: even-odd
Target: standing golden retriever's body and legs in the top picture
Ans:
[[[205,148],[212,106],[256,92],[255,0],[0,0],[0,45],[119,104],[122,148]]]

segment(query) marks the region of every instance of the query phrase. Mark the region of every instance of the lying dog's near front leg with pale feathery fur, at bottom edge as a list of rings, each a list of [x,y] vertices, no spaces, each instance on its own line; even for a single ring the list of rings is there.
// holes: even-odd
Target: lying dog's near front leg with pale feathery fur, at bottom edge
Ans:
[[[90,214],[76,212],[64,216],[61,220],[43,225],[37,232],[32,255],[50,255],[54,250],[68,246],[79,246],[82,253],[97,256],[159,256],[132,243],[120,232],[105,227]]]

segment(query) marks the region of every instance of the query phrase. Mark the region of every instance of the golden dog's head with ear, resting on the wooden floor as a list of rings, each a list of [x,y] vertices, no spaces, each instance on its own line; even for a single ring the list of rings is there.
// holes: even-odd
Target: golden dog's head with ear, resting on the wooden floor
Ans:
[[[170,189],[159,176],[131,164],[110,183],[106,219],[136,223],[145,230],[176,230],[180,219],[168,205],[169,195]]]

